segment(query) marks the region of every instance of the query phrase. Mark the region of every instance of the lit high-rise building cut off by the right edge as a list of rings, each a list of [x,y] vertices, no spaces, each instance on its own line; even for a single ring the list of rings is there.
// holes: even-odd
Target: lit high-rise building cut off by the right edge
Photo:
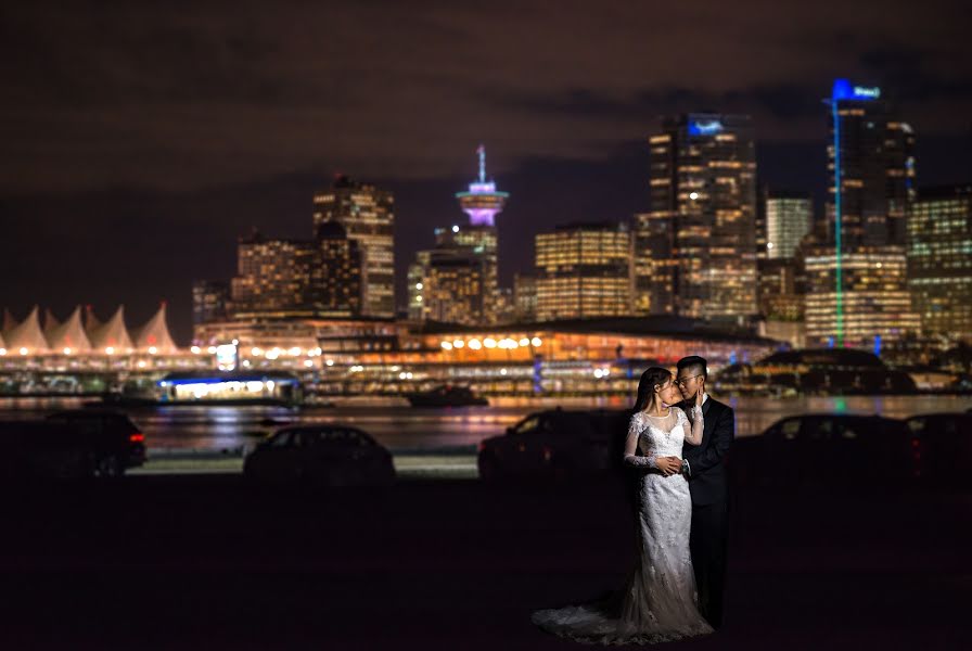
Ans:
[[[972,184],[919,191],[908,217],[908,284],[923,334],[972,343]]]

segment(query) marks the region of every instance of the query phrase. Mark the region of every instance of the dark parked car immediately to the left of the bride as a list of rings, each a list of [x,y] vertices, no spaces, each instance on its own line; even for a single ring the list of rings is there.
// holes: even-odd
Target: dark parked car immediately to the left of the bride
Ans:
[[[625,411],[539,411],[479,443],[479,477],[570,476],[617,469],[624,450]]]

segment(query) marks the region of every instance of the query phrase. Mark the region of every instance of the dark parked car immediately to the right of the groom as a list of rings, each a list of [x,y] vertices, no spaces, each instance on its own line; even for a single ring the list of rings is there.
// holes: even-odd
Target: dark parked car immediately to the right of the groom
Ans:
[[[836,413],[785,418],[738,438],[727,464],[733,484],[764,486],[886,484],[916,469],[904,421]]]

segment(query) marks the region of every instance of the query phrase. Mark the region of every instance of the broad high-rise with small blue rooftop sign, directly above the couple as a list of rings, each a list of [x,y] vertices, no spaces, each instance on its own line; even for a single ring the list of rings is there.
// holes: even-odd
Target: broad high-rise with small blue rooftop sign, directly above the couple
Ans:
[[[635,309],[738,322],[756,314],[756,157],[743,115],[666,118],[651,210],[635,218]]]

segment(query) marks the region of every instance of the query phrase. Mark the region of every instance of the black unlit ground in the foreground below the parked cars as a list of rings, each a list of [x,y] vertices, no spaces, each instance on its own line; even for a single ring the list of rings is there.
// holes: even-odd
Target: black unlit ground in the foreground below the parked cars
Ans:
[[[972,492],[737,493],[726,627],[678,649],[972,649]],[[570,649],[624,583],[613,485],[5,488],[0,649]]]

